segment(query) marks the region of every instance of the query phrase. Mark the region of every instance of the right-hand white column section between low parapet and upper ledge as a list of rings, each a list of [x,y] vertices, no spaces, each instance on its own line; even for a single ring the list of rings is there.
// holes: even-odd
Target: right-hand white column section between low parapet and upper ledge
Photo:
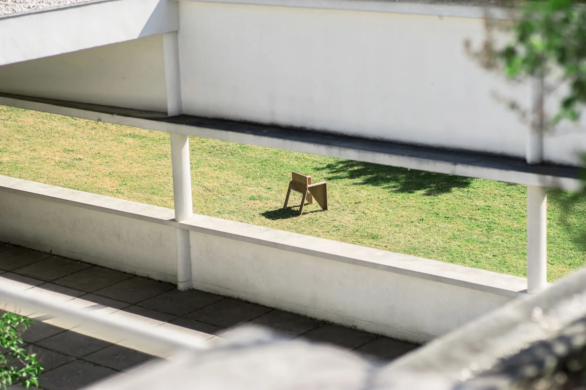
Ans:
[[[527,186],[527,292],[538,293],[547,285],[546,187]]]

